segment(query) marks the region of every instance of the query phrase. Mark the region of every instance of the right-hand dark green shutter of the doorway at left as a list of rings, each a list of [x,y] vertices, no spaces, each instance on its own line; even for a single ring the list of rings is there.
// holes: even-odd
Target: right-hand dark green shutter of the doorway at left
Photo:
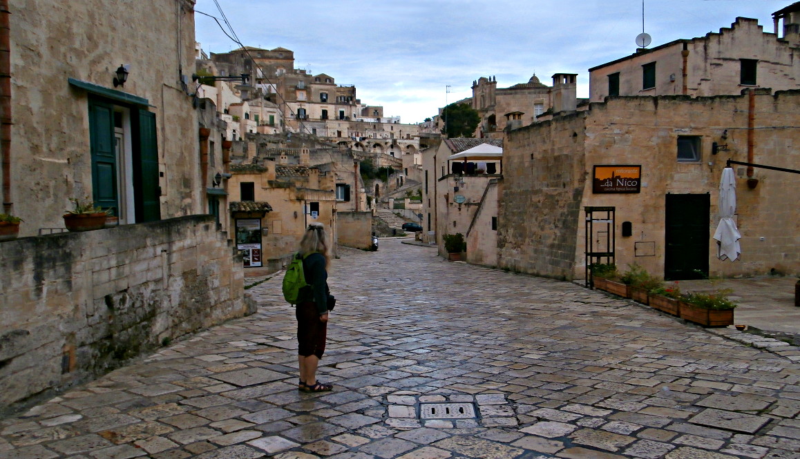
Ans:
[[[137,222],[161,219],[161,188],[158,186],[158,142],[155,114],[138,110],[138,142],[134,148],[134,198]]]

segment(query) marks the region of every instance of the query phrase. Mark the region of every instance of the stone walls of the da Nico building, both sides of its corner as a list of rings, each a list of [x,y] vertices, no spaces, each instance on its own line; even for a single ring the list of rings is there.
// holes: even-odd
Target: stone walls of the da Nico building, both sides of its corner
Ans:
[[[726,159],[800,170],[800,91],[757,90],[753,129],[750,98],[610,98],[576,114],[514,130],[504,146],[504,179],[499,194],[499,265],[526,273],[582,278],[585,269],[584,206],[616,209],[616,261],[621,269],[638,263],[650,273],[666,269],[666,196],[708,195],[705,237],[711,276],[800,272],[800,214],[795,174],[754,171],[758,186],[745,185],[746,169],[734,166],[737,222],[742,233],[739,261],[721,261],[711,240],[717,226],[718,183]],[[699,158],[678,161],[679,136],[698,139]],[[714,144],[724,145],[717,150]],[[641,191],[593,194],[594,166],[641,165]],[[622,222],[632,235],[622,236]],[[644,245],[647,249],[644,249]],[[652,248],[652,251],[650,251]]]

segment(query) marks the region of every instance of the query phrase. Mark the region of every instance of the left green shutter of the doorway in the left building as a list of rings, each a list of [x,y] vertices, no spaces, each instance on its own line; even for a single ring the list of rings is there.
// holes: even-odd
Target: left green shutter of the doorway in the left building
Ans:
[[[92,157],[92,200],[96,206],[103,209],[110,208],[114,210],[114,215],[118,215],[114,106],[90,99],[89,138]]]

